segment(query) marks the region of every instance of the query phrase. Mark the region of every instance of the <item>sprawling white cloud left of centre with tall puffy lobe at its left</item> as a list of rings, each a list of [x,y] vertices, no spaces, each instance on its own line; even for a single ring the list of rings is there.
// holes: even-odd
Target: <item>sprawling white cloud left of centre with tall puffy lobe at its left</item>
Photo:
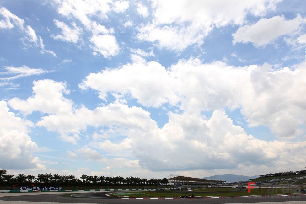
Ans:
[[[58,132],[66,142],[77,144],[81,131],[86,130],[87,126],[112,127],[116,124],[137,129],[156,126],[148,112],[137,107],[129,108],[124,101],[118,100],[108,106],[89,110],[84,106],[74,107],[72,100],[64,97],[64,94],[69,94],[66,83],[46,79],[34,81],[33,84],[33,96],[26,100],[13,98],[9,100],[9,105],[23,114],[33,111],[46,113],[36,126]]]

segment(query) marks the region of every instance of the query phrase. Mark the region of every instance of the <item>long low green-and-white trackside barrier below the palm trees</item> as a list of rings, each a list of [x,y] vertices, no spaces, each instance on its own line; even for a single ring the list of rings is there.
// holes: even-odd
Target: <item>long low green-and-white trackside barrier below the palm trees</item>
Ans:
[[[162,189],[172,189],[172,188],[162,188]],[[156,188],[134,188],[134,189],[72,189],[72,190],[41,190],[41,191],[33,191],[33,190],[0,190],[0,193],[33,193],[33,192],[76,192],[76,191],[144,191],[144,190],[159,190]]]

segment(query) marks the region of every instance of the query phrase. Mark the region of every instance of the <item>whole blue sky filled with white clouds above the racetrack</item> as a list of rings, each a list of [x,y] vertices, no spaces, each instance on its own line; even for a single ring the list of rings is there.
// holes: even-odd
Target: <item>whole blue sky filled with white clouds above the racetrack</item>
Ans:
[[[306,2],[0,1],[0,169],[305,170]]]

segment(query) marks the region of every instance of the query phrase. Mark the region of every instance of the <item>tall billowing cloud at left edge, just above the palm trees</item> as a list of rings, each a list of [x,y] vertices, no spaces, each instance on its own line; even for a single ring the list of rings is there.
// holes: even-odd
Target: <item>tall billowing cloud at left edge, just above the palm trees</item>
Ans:
[[[33,123],[11,112],[5,101],[0,101],[0,163],[4,169],[40,169],[45,167],[32,157],[37,145],[28,135]]]

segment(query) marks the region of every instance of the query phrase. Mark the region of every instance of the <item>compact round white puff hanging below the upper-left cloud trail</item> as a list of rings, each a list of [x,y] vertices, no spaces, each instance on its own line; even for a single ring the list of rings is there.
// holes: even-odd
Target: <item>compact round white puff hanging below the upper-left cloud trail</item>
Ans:
[[[94,44],[92,48],[105,58],[115,56],[119,53],[119,45],[114,35],[94,35],[90,41]]]

